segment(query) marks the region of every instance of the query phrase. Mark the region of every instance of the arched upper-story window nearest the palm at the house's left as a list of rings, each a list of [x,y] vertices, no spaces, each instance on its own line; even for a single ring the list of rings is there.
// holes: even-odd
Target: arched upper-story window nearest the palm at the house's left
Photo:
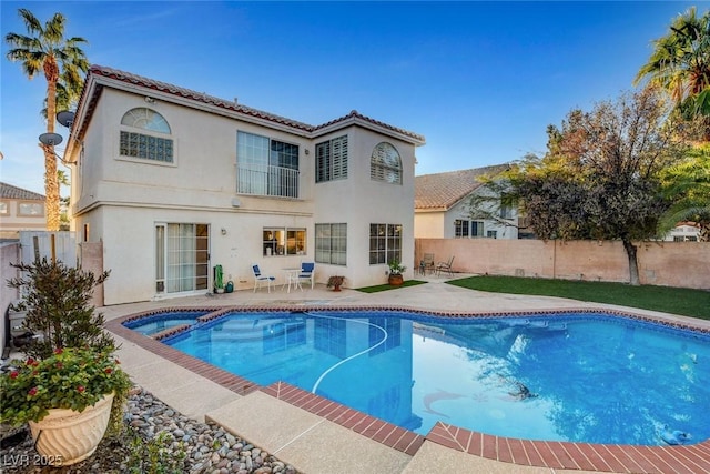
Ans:
[[[120,153],[122,157],[173,162],[170,125],[160,113],[145,107],[131,109],[121,119]],[[140,129],[132,131],[129,129]]]

